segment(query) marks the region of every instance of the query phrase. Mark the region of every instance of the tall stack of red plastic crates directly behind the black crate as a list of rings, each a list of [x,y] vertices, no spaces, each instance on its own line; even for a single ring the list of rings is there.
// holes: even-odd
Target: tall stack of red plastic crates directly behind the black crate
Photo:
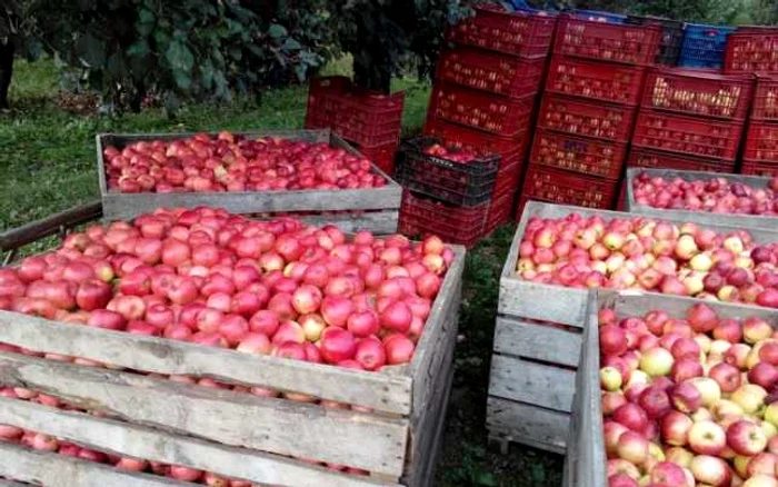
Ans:
[[[497,3],[475,10],[449,31],[425,133],[480,156],[499,156],[486,235],[512,213],[557,19]]]

